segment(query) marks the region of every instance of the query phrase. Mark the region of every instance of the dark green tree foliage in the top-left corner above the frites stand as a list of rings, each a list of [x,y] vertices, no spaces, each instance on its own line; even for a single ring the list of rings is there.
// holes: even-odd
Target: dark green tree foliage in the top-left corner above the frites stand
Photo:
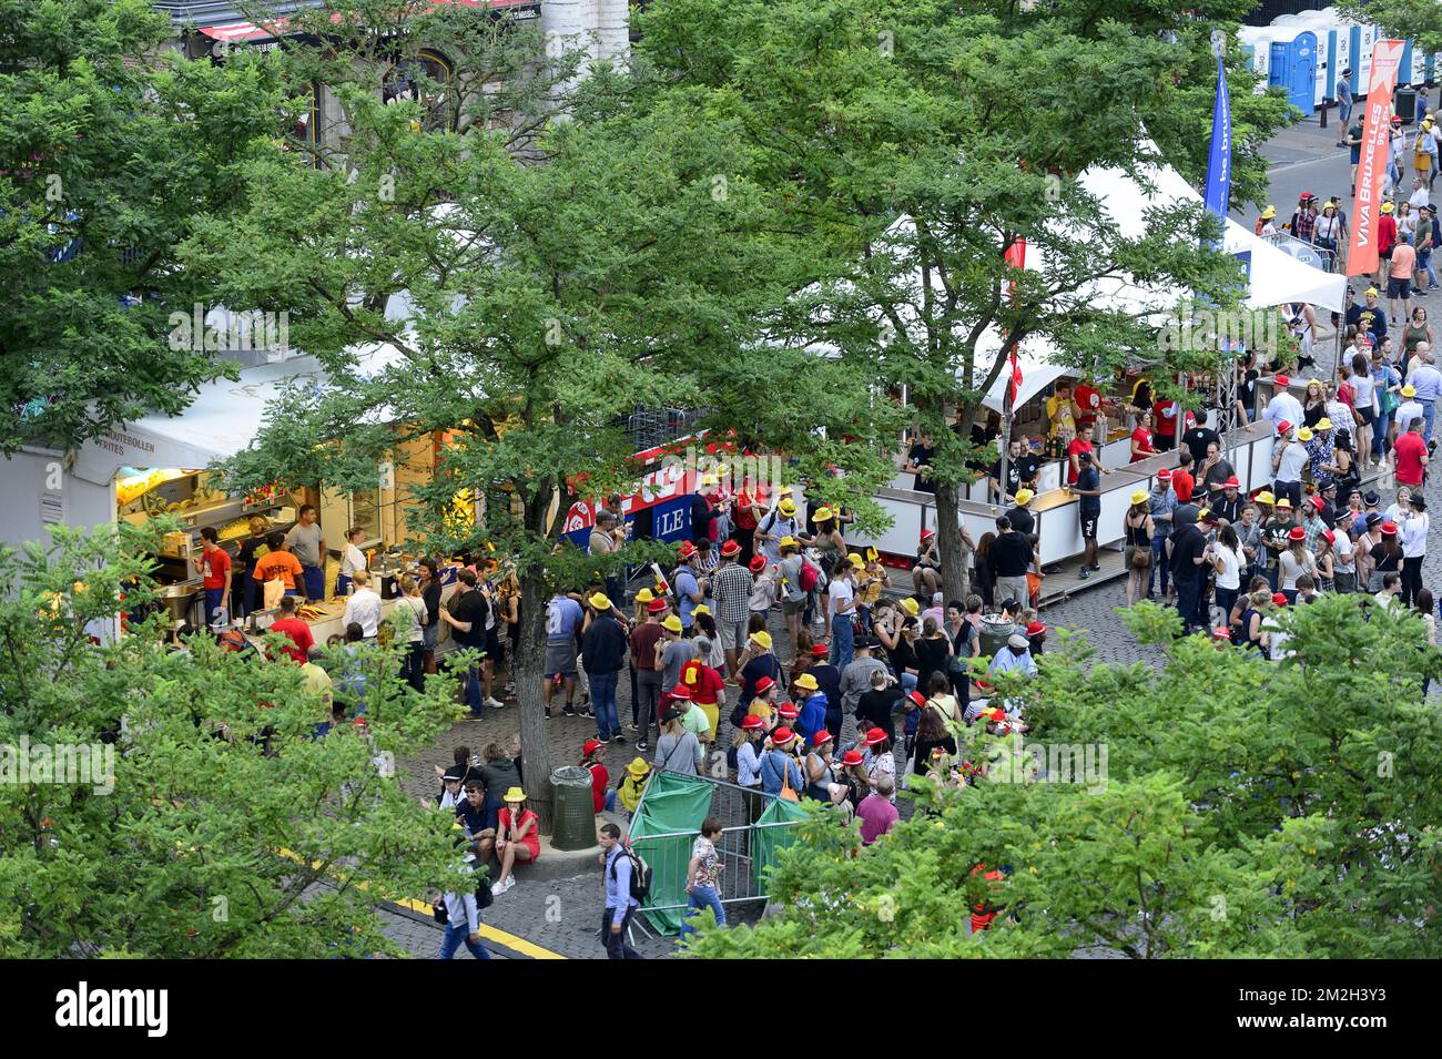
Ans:
[[[0,1],[0,454],[177,414],[234,373],[170,341],[172,313],[215,305],[176,248],[245,200],[287,107],[262,56],[189,62],[169,36],[146,0]]]

